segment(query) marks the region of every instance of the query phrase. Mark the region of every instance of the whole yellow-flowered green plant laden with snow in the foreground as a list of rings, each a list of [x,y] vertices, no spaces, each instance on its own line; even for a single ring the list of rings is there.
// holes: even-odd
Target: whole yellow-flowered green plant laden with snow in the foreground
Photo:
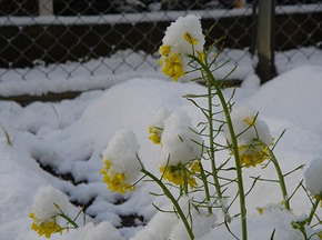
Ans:
[[[167,224],[170,227],[173,223],[171,232],[167,237],[162,234],[162,239],[169,237],[173,240],[177,240],[175,238],[214,239],[215,236],[211,234],[210,229],[214,229],[215,224],[217,227],[224,226],[230,238],[246,240],[250,236],[246,196],[258,181],[279,183],[282,192],[281,203],[258,208],[260,214],[255,221],[263,223],[266,219],[272,219],[273,214],[281,212],[286,214],[281,214],[283,218],[280,222],[270,224],[272,229],[265,233],[268,236],[263,236],[263,239],[273,240],[275,237],[278,239],[294,239],[294,237],[301,240],[322,239],[322,232],[314,230],[314,226],[311,226],[322,199],[322,159],[312,161],[305,172],[306,187],[303,189],[312,194],[312,199],[310,197],[311,212],[308,217],[296,217],[292,213],[290,199],[301,183],[289,196],[284,178],[301,167],[283,173],[274,154],[274,148],[284,132],[273,140],[269,126],[255,110],[237,107],[233,96],[228,99],[224,97],[223,80],[218,81],[214,77],[215,70],[221,67],[217,66],[221,48],[219,50],[215,48],[218,42],[205,48],[204,42],[200,17],[189,14],[171,23],[159,50],[161,70],[174,81],[192,72],[198,72],[200,76],[193,80],[202,82],[207,92],[188,93],[184,98],[201,111],[204,120],[193,127],[184,111],[170,112],[161,109],[155,113],[149,127],[149,139],[160,146],[160,159],[155,160],[154,164],[160,172],[145,168],[144,161],[140,159],[140,144],[137,142],[134,132],[127,129],[117,131],[102,152],[103,169],[100,173],[103,174],[103,182],[112,192],[118,191],[122,194],[128,190],[133,191],[135,184],[144,178],[149,178],[159,186],[163,194],[158,192],[155,196],[167,197],[172,208],[162,210],[153,206],[163,213],[174,213]],[[228,153],[227,160],[219,162],[217,157],[222,152]],[[265,169],[271,163],[276,170],[278,180],[254,178],[252,187],[245,191],[243,171],[245,169],[251,171],[253,169],[251,167]],[[233,196],[228,189],[235,191]],[[231,216],[231,207],[235,204],[235,201],[239,201],[239,212]],[[40,236],[50,237],[56,232],[61,233],[63,229],[78,228],[78,224],[66,214],[69,212],[69,204],[63,193],[44,188],[37,194],[32,207],[30,214],[33,219],[32,229]],[[218,211],[221,211],[222,219],[215,214]],[[178,217],[177,221],[173,221],[173,216]],[[61,219],[68,224],[62,226]],[[178,222],[179,219],[180,222]],[[240,227],[237,228],[240,233],[235,234],[231,230],[235,222],[233,219],[240,220]],[[322,221],[318,217],[316,219],[316,226],[321,224]],[[214,221],[217,221],[215,224]],[[278,231],[282,228],[291,233],[281,237],[283,232]],[[80,239],[89,239],[91,232],[108,232],[107,229],[111,229],[114,239],[122,239],[120,234],[114,234],[114,229],[109,223],[101,223],[98,227],[91,223],[84,226],[80,229]],[[205,234],[202,231],[209,233]],[[153,236],[153,233],[150,234]]]

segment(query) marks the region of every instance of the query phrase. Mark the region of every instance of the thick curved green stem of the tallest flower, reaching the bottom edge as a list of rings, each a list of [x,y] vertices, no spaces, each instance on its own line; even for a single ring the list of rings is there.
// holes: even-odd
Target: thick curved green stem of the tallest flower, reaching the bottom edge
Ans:
[[[240,157],[239,157],[239,150],[238,150],[238,142],[237,142],[237,137],[233,130],[232,121],[230,118],[230,111],[228,109],[228,104],[225,102],[225,99],[223,97],[223,93],[221,91],[221,88],[213,77],[212,72],[210,69],[199,59],[197,59],[204,72],[208,76],[209,81],[212,83],[212,86],[215,88],[217,94],[219,97],[219,100],[221,102],[221,106],[223,108],[223,112],[225,116],[227,124],[229,128],[229,132],[231,136],[231,143],[232,143],[232,149],[233,149],[233,154],[234,154],[234,160],[235,160],[235,171],[237,171],[237,179],[238,179],[238,189],[239,189],[239,199],[240,199],[240,210],[241,210],[241,227],[242,227],[242,239],[246,240],[248,239],[248,230],[246,230],[246,207],[245,207],[245,194],[244,194],[244,188],[243,188],[243,178],[242,178],[242,169],[241,169],[241,162],[240,162]]]

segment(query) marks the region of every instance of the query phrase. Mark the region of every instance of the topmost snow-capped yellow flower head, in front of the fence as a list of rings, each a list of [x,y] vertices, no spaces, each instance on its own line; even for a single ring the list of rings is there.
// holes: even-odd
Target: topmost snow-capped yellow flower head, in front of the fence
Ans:
[[[185,74],[188,56],[202,56],[203,44],[204,37],[200,17],[194,14],[179,17],[167,28],[162,46],[159,49],[161,70],[165,76],[178,81]]]

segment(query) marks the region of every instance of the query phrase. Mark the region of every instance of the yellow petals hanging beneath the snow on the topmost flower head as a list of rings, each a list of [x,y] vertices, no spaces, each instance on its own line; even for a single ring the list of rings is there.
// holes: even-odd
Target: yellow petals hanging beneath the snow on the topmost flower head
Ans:
[[[159,61],[159,63],[163,66],[161,69],[162,72],[174,79],[174,81],[178,81],[180,77],[185,76],[183,64],[178,53],[173,52],[169,57],[164,57]]]

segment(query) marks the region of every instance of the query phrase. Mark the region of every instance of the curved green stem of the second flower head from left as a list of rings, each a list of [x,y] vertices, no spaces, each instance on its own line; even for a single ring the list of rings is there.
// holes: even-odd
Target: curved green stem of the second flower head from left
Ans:
[[[154,182],[157,182],[160,188],[162,189],[162,191],[164,192],[164,194],[170,199],[170,201],[172,202],[172,204],[174,206],[174,209],[178,211],[179,217],[181,218],[188,234],[190,237],[191,240],[194,239],[192,229],[180,207],[180,204],[178,203],[177,199],[173,197],[173,194],[169,191],[169,189],[167,188],[167,186],[160,180],[158,179],[155,176],[153,176],[151,172],[147,171],[144,168],[141,170],[145,176],[148,176],[149,178],[151,178]]]

